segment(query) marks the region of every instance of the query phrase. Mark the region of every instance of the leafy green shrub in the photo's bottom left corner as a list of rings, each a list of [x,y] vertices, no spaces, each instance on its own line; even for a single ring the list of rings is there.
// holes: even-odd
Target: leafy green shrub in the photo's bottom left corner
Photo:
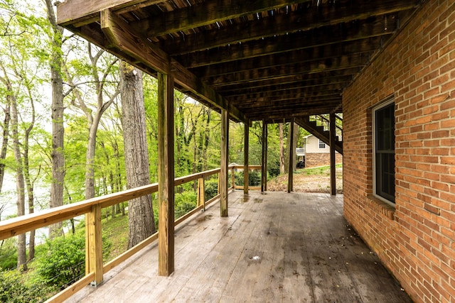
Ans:
[[[43,302],[52,290],[41,282],[31,284],[27,275],[0,268],[0,302]]]

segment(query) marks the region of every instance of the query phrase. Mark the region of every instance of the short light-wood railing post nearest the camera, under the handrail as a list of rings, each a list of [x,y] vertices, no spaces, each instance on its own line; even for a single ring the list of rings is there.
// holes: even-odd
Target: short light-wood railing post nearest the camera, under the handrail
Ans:
[[[95,273],[93,286],[102,282],[102,233],[101,233],[101,205],[92,206],[92,211],[85,215],[85,274]]]

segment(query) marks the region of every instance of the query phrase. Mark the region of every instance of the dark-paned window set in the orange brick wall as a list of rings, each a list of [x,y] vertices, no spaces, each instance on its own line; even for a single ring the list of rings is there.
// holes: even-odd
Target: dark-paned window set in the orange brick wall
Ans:
[[[395,102],[373,109],[375,195],[395,204]]]

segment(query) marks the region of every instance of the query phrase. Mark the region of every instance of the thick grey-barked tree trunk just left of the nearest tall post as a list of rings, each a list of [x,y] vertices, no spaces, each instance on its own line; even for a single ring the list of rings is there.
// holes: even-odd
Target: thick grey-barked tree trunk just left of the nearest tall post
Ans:
[[[133,188],[150,182],[142,72],[124,62],[119,70],[127,187]],[[132,248],[156,231],[151,195],[129,201],[128,209],[128,248]]]

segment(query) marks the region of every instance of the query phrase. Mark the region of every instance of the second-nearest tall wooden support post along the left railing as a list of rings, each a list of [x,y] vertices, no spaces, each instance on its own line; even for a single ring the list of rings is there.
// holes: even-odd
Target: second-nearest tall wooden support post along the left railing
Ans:
[[[220,214],[228,216],[229,112],[221,111]]]

